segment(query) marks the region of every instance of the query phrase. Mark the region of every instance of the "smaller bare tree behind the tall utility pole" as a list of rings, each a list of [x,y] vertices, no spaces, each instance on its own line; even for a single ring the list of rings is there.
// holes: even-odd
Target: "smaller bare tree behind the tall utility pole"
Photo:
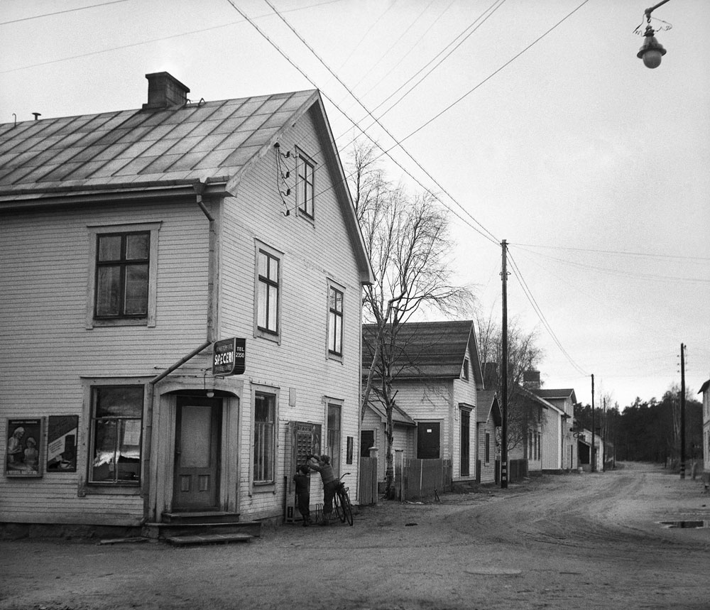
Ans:
[[[503,369],[503,332],[501,326],[488,318],[476,317],[476,337],[479,341],[481,362],[493,363]],[[537,345],[537,332],[523,330],[520,321],[508,320],[508,450],[524,445],[531,423],[539,423],[541,413],[523,396],[523,373],[534,371],[542,361],[543,352]],[[496,375],[498,393],[503,391],[503,380]],[[490,381],[486,381],[490,383]],[[496,383],[496,382],[494,382]]]

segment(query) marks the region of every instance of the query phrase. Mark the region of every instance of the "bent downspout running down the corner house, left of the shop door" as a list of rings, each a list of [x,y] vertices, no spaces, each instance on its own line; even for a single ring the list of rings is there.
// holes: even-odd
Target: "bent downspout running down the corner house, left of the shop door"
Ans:
[[[153,401],[155,400],[155,385],[159,381],[162,381],[165,377],[170,375],[170,373],[175,371],[175,369],[179,369],[180,366],[185,364],[185,362],[191,360],[192,358],[197,356],[197,354],[200,354],[202,350],[209,347],[209,345],[212,345],[212,343],[214,342],[214,276],[217,270],[217,234],[214,229],[214,217],[212,216],[212,214],[209,213],[209,210],[207,209],[207,207],[205,207],[204,202],[202,201],[202,193],[204,192],[205,188],[204,183],[200,182],[200,180],[197,180],[197,182],[192,185],[192,187],[195,189],[195,202],[197,202],[197,205],[200,207],[204,215],[207,217],[207,220],[209,221],[209,254],[207,259],[207,339],[202,345],[200,345],[200,347],[193,349],[190,354],[187,354],[187,356],[183,356],[180,360],[175,362],[175,364],[169,366],[168,369],[165,369],[165,371],[153,377],[151,381],[148,381],[148,410],[146,416],[145,431],[147,457],[146,470],[151,469],[150,463],[152,457],[151,450],[153,447]],[[153,472],[151,472],[149,476],[143,476],[143,489],[145,490],[143,491],[144,521],[148,519],[148,513],[151,509],[151,480],[153,480],[151,475],[155,477],[158,476],[158,462],[157,460],[154,460],[153,462],[155,464],[154,469],[151,469],[153,470]]]

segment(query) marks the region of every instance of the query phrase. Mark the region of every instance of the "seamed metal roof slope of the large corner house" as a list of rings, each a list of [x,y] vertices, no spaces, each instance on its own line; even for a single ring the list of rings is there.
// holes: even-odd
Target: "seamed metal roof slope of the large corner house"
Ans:
[[[316,90],[0,125],[0,197],[229,180]]]

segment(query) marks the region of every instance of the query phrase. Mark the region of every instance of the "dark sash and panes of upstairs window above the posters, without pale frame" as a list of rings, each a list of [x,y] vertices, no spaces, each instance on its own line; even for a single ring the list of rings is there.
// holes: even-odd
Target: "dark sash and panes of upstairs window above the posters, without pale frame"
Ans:
[[[97,236],[97,318],[148,315],[150,253],[149,232]]]

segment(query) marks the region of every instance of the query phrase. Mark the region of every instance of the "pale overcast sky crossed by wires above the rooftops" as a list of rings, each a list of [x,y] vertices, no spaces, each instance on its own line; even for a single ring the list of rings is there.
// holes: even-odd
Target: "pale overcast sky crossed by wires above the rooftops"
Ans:
[[[636,58],[648,4],[1,0],[0,121],[139,108],[163,70],[193,100],[318,88],[344,160],[359,124],[391,180],[452,210],[457,281],[498,320],[508,241],[508,315],[539,332],[545,387],[589,403],[594,374],[596,406],[661,398],[684,343],[695,395],[710,377],[710,2],[653,12],[672,26],[655,70]]]

